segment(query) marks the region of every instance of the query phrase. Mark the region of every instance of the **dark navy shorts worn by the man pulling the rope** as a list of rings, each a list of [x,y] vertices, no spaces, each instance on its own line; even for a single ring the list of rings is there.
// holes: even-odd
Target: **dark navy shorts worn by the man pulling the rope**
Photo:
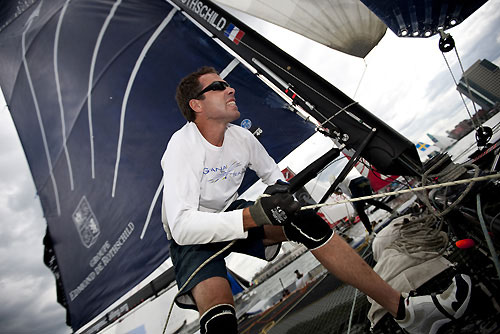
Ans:
[[[252,205],[253,202],[237,200],[232,203],[226,211],[242,209]],[[264,228],[256,227],[248,231],[246,239],[237,240],[233,246],[222,254],[218,255],[196,273],[191,281],[184,287],[181,293],[175,298],[175,303],[181,308],[197,310],[191,290],[200,282],[211,277],[224,277],[227,279],[226,262],[224,258],[232,252],[254,256],[263,260],[274,259],[281,248],[281,244],[264,246],[262,239]],[[180,289],[193,272],[209,257],[227,246],[230,242],[215,242],[199,245],[179,245],[174,240],[170,240],[170,256],[174,264],[175,280]]]

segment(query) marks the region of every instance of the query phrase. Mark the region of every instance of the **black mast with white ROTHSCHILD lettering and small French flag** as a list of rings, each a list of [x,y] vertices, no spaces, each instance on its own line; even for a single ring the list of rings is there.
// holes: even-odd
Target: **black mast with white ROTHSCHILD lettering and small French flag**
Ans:
[[[321,76],[209,0],[167,0],[255,68],[348,149],[380,172],[418,175],[414,145]],[[376,129],[368,143],[364,139]]]

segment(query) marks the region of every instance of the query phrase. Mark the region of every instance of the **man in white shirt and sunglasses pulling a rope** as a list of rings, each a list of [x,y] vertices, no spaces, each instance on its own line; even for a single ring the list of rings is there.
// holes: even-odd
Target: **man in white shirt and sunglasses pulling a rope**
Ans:
[[[303,243],[332,274],[401,319],[402,327],[429,333],[449,321],[430,296],[404,299],[323,219],[299,210],[262,145],[249,131],[230,124],[240,116],[235,90],[213,68],[203,67],[182,79],[176,100],[188,123],[172,136],[162,158],[162,219],[180,290],[176,303],[198,310],[201,333],[238,332],[223,260],[227,252],[217,253],[230,245],[229,251],[270,260],[288,240]],[[255,203],[235,201],[247,167],[269,185]],[[435,303],[461,316],[470,285],[467,276],[456,277]],[[457,293],[465,299],[453,308]]]

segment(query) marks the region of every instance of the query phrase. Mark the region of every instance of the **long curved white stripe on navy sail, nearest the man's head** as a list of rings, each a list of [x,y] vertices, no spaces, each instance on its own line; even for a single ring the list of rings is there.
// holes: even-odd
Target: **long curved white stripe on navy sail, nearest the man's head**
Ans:
[[[141,51],[141,54],[137,58],[137,61],[134,65],[134,68],[132,70],[132,73],[130,74],[130,78],[127,84],[127,88],[125,90],[125,94],[123,97],[123,102],[122,102],[122,110],[121,110],[121,115],[120,115],[120,134],[118,136],[118,146],[117,146],[117,152],[116,152],[116,162],[115,162],[115,174],[113,177],[113,189],[111,191],[111,197],[115,197],[115,191],[116,191],[116,182],[118,178],[118,167],[120,165],[120,157],[121,157],[121,149],[122,149],[122,142],[123,142],[123,132],[125,128],[125,112],[127,110],[127,103],[128,99],[130,96],[130,92],[132,90],[132,86],[134,85],[135,78],[137,76],[137,73],[139,72],[139,68],[142,65],[142,62],[144,58],[146,57],[146,53],[149,51],[153,43],[156,41],[160,33],[165,29],[167,24],[170,22],[174,14],[177,12],[176,8],[172,8],[172,10],[168,13],[168,15],[163,19],[161,24],[156,28],[156,30],[153,32],[149,40],[146,42],[146,45]]]

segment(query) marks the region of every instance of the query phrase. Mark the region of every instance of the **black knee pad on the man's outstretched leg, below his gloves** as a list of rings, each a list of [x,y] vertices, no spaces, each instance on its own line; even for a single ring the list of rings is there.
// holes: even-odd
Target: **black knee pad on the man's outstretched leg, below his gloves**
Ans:
[[[290,241],[300,242],[309,250],[320,248],[333,235],[333,231],[314,210],[300,211],[290,224],[283,227],[285,236]]]

